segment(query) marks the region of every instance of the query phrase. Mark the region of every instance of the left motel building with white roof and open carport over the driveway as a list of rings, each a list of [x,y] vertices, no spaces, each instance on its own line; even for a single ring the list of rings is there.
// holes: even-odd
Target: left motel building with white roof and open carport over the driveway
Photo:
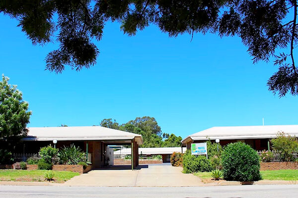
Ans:
[[[100,126],[88,127],[30,127],[23,141],[24,153],[36,153],[40,147],[52,144],[57,148],[75,144],[86,152],[91,169],[105,167],[108,145],[130,145],[132,153],[131,168],[139,165],[139,145],[143,144],[142,135],[109,129]],[[113,159],[109,159],[113,160]]]

